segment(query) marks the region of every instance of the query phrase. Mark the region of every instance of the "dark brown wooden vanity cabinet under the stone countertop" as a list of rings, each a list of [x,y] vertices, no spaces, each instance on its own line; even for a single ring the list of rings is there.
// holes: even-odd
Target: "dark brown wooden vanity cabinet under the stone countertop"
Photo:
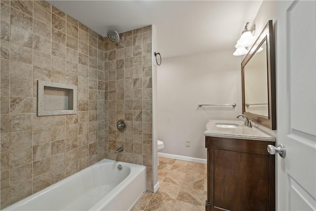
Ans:
[[[275,211],[275,155],[271,141],[205,137],[206,211]]]

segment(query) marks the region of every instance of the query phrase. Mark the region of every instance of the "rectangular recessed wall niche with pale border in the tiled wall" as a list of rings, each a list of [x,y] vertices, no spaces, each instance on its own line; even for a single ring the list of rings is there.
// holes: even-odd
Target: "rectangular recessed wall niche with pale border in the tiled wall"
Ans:
[[[38,81],[38,116],[77,114],[77,86]]]

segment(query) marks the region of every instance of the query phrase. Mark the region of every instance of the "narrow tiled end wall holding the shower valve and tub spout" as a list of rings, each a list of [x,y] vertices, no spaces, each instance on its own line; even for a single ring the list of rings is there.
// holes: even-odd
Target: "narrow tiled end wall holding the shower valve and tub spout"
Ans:
[[[147,168],[147,188],[153,190],[153,89],[152,26],[120,35],[118,44],[104,45],[106,158],[115,160],[114,151],[124,147],[117,160]],[[124,132],[117,130],[125,120]]]

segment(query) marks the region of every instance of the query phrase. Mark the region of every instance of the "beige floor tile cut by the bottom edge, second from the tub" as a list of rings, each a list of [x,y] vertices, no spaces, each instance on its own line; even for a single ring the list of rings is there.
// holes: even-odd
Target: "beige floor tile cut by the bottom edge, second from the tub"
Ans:
[[[176,200],[154,195],[144,211],[172,211]]]

